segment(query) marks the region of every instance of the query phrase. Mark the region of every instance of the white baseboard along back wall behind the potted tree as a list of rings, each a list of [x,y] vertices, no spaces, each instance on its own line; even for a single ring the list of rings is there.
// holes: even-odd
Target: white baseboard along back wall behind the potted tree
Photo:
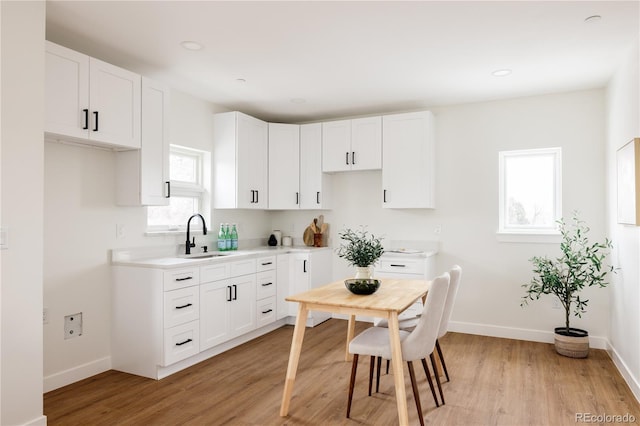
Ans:
[[[554,340],[552,330],[531,330],[527,328],[503,327],[460,321],[449,322],[449,331],[542,343],[553,343]],[[601,336],[589,336],[589,346],[595,349],[608,349],[607,339]]]

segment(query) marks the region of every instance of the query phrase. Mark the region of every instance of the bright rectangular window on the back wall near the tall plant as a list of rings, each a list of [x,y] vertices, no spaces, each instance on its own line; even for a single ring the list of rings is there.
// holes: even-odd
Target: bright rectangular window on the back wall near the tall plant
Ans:
[[[499,152],[499,180],[499,235],[559,235],[561,148]]]

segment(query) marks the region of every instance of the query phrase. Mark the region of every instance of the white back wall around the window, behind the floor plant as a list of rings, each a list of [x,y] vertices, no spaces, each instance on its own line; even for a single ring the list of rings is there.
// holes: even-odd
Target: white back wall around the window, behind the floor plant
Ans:
[[[605,110],[602,90],[536,96],[507,101],[437,108],[437,180],[434,210],[381,208],[381,173],[334,174],[334,209],[322,212],[331,240],[345,226],[368,230],[393,240],[440,241],[439,270],[454,263],[463,282],[453,312],[452,328],[488,335],[552,341],[564,311],[552,309],[551,298],[520,307],[521,284],[531,277],[534,255],[554,255],[552,244],[502,243],[498,227],[498,151],[561,146],[563,210],[578,209],[593,238],[605,230]],[[407,179],[411,179],[410,171]],[[273,213],[273,227],[300,238],[318,212]],[[434,230],[441,226],[442,233]],[[346,262],[334,256],[334,278],[348,276]],[[588,313],[572,325],[599,337],[608,334],[608,292],[587,292]]]

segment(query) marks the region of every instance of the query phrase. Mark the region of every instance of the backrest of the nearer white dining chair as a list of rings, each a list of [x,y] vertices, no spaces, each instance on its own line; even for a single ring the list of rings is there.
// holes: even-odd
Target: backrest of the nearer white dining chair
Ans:
[[[402,341],[402,358],[415,361],[429,356],[436,345],[440,321],[449,289],[449,273],[445,272],[431,283],[418,325]]]

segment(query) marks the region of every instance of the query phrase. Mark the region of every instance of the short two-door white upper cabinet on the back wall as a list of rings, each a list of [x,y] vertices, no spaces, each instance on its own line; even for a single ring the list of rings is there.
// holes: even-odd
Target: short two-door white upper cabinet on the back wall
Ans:
[[[322,123],[322,170],[379,170],[382,167],[382,118]]]

